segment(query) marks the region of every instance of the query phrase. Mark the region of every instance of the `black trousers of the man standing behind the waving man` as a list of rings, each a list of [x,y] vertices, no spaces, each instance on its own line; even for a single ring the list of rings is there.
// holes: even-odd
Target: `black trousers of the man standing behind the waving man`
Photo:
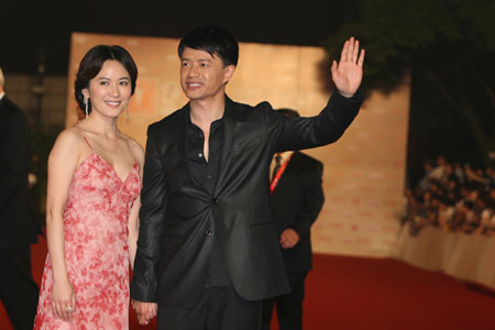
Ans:
[[[307,274],[288,273],[293,292],[288,295],[263,300],[263,330],[270,330],[274,305],[277,307],[277,319],[280,330],[302,329],[302,300],[305,299],[305,279]]]

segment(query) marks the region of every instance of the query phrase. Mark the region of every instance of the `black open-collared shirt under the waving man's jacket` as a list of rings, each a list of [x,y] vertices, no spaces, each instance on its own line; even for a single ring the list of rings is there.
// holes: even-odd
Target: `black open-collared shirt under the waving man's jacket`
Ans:
[[[223,139],[223,118],[216,120],[210,125],[208,162],[204,155],[205,134],[202,130],[190,121],[187,129],[187,158],[190,175],[196,184],[213,196],[215,186],[219,175],[221,146]],[[215,221],[212,221],[215,223]],[[222,263],[220,245],[216,239],[215,229],[209,237],[213,240],[210,267],[205,287],[229,286],[230,282]]]

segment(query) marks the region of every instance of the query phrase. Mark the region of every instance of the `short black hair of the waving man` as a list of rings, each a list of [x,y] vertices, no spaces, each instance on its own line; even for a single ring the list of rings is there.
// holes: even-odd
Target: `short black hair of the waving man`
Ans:
[[[183,57],[185,47],[205,51],[211,56],[219,56],[223,67],[238,65],[239,44],[235,37],[226,29],[208,25],[189,31],[180,40],[178,55]]]

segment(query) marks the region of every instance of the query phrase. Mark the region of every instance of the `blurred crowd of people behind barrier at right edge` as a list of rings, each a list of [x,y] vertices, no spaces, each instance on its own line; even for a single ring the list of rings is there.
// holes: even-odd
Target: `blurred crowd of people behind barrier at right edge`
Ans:
[[[425,226],[466,234],[495,234],[495,170],[450,162],[427,162],[424,176],[407,189],[404,222],[417,235]]]

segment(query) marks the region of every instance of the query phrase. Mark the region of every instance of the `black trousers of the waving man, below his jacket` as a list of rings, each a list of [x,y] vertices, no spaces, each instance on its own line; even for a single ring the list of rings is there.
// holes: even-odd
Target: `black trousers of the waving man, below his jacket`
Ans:
[[[191,308],[158,308],[161,330],[260,330],[262,301],[242,299],[231,286],[205,288]]]

